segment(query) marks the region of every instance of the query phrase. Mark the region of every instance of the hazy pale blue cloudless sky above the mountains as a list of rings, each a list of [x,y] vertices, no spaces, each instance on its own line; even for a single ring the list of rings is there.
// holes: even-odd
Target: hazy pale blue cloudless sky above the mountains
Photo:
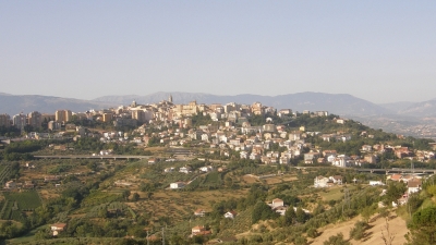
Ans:
[[[0,93],[436,98],[436,1],[0,1]]]

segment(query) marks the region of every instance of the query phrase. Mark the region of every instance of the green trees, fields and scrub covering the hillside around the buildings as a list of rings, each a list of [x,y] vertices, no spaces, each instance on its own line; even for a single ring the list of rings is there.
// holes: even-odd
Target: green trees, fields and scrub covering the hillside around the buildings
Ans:
[[[287,133],[303,125],[307,132],[342,132],[351,136],[347,142],[335,138],[327,142],[307,133],[302,152],[320,147],[337,150],[338,154],[363,156],[363,145],[389,144],[412,149],[428,149],[431,142],[399,138],[352,120],[338,124],[335,122],[338,115],[299,115],[282,120],[277,115],[266,114],[249,117],[247,120],[252,125],[261,126],[265,124],[266,118],[287,125]],[[219,126],[219,123],[213,122],[208,115],[194,115],[192,120],[196,128],[209,124]],[[93,124],[78,119],[74,122],[87,126],[88,130],[112,128],[109,124]],[[235,149],[222,149],[221,146],[209,148],[208,144],[201,140],[192,140],[189,144],[195,148],[193,154],[198,154],[195,157],[202,160],[189,157],[181,160],[175,156],[177,151],[168,150],[169,147],[160,143],[161,137],[157,133],[167,130],[170,132],[177,128],[171,125],[147,125],[145,132],[141,132],[142,135],[149,136],[147,150],[133,143],[104,143],[99,137],[82,137],[75,142],[25,140],[5,146],[1,151],[3,161],[0,163],[0,181],[4,183],[11,177],[16,177],[17,181],[33,180],[38,188],[3,194],[4,198],[0,198],[0,217],[5,221],[0,225],[0,238],[27,234],[38,244],[74,244],[74,238],[80,240],[77,243],[82,244],[97,244],[107,243],[107,237],[112,238],[110,243],[145,244],[148,231],[156,237],[156,241],[149,241],[150,244],[160,244],[164,229],[165,238],[169,244],[204,244],[211,238],[232,237],[245,232],[246,235],[230,244],[307,244],[311,238],[319,236],[320,228],[361,216],[362,221],[356,222],[350,231],[350,237],[360,241],[370,235],[368,222],[374,213],[389,213],[388,210],[378,208],[379,201],[390,205],[407,189],[404,183],[390,182],[383,187],[387,188],[386,195],[383,196],[382,187],[368,186],[366,183],[370,180],[383,180],[384,175],[322,164],[319,168],[293,168],[304,164],[303,157],[293,159],[289,166],[261,164],[259,160],[239,159],[239,151]],[[187,133],[185,128],[181,131]],[[372,137],[362,137],[363,132]],[[132,134],[140,136],[138,132]],[[250,136],[240,135],[242,140],[246,142],[250,140]],[[65,144],[66,150],[55,151],[48,147],[49,144]],[[264,150],[280,154],[288,149],[279,143],[271,143],[269,147]],[[144,160],[33,159],[36,152],[89,155],[100,150],[112,150],[117,155],[153,155],[160,161],[148,164]],[[223,156],[221,150],[228,150],[229,157]],[[178,160],[165,161],[168,158]],[[371,168],[410,164],[410,160],[397,159],[392,152],[379,154],[377,158],[378,163],[372,164]],[[36,163],[36,168],[24,168],[24,162],[29,160]],[[434,161],[415,163],[416,167],[436,167]],[[214,169],[226,168],[221,172],[214,170],[204,173],[199,168],[205,166],[211,166]],[[190,167],[192,172],[178,172],[181,167]],[[175,171],[165,172],[167,168],[174,168]],[[58,175],[60,180],[45,182],[44,176],[49,174]],[[343,183],[348,184],[326,189],[308,187],[318,175],[341,175]],[[354,179],[360,183],[352,184]],[[405,219],[410,219],[410,244],[434,242],[431,234],[435,232],[435,224],[432,223],[435,213],[432,209],[434,201],[431,198],[436,195],[436,187],[432,181],[431,179],[424,182],[423,192],[410,195],[408,205],[398,208],[399,213],[405,213]],[[168,189],[173,182],[183,182],[186,186],[177,191]],[[283,216],[268,205],[275,198],[282,199],[288,206]],[[196,209],[206,210],[205,217],[194,216],[193,211]],[[235,218],[226,219],[223,215],[228,211],[237,213]],[[52,238],[48,224],[58,222],[68,223],[68,228],[57,238]],[[213,234],[189,237],[194,225],[205,225]],[[126,236],[134,238],[122,238]],[[384,237],[385,244],[388,244],[392,235],[387,232]],[[339,233],[330,236],[324,244],[350,242]]]

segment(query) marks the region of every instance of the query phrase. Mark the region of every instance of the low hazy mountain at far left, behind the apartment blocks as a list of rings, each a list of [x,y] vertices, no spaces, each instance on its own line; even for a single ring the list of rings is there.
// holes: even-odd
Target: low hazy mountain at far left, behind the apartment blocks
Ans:
[[[32,111],[55,113],[59,109],[70,109],[80,112],[89,109],[104,109],[110,106],[112,103],[52,96],[0,94],[0,113],[8,113],[10,115]]]

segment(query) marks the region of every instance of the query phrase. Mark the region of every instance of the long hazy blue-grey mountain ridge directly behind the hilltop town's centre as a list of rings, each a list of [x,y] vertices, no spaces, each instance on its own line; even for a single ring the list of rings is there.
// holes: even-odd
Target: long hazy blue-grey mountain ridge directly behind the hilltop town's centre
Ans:
[[[341,115],[373,115],[395,113],[389,109],[377,106],[364,99],[356,98],[347,94],[325,94],[325,93],[296,93],[279,96],[259,95],[235,95],[218,96],[201,93],[154,93],[146,96],[105,96],[94,99],[98,102],[118,102],[130,105],[133,100],[138,103],[154,103],[168,100],[172,96],[174,103],[187,103],[196,100],[199,103],[247,103],[259,101],[263,105],[271,106],[277,109],[290,108],[294,111],[329,111]]]

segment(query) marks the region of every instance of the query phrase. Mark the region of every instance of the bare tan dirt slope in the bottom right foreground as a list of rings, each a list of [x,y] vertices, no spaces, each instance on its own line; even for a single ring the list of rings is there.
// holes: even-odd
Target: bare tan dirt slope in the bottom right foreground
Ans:
[[[342,232],[346,240],[350,238],[350,230],[354,226],[354,223],[360,220],[360,217],[354,218],[350,221],[346,221],[337,224],[329,224],[325,229],[319,230],[322,235],[316,237],[312,245],[323,245],[323,242],[328,237]],[[374,220],[374,219],[373,219]],[[385,218],[377,218],[375,221],[370,222],[371,229],[366,231],[366,236],[361,241],[351,240],[353,245],[383,245],[382,229],[386,234],[386,221]],[[391,216],[389,219],[389,230],[395,233],[392,245],[402,245],[405,243],[404,235],[408,233],[405,221],[397,216]]]

